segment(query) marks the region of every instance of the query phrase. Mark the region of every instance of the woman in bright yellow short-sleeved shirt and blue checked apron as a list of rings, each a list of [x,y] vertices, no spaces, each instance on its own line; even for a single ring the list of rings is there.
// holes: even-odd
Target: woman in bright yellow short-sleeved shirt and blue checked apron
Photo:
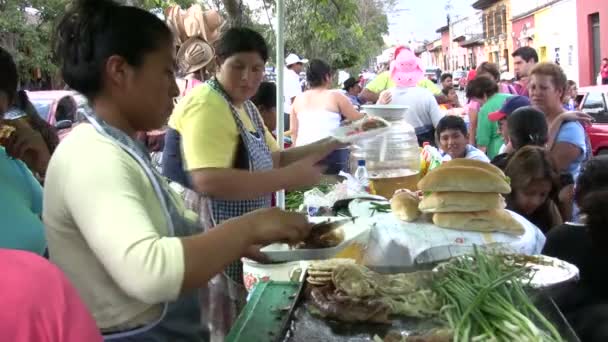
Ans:
[[[215,53],[215,77],[182,98],[169,120],[174,131],[168,136],[179,137],[181,151],[164,152],[169,152],[167,162],[173,157],[175,163],[182,163],[183,156],[182,170],[187,174],[176,180],[186,179],[184,185],[192,190],[186,190],[188,202],[199,212],[206,229],[270,207],[275,191],[316,185],[322,172],[319,162],[340,147],[325,139],[280,150],[250,101],[264,78],[268,60],[268,47],[259,33],[228,29],[216,42]],[[228,322],[217,323],[229,327],[246,296],[242,264],[232,264],[213,285],[216,288],[211,291],[220,295],[210,299],[211,306],[223,312],[213,312],[211,317],[232,316]]]

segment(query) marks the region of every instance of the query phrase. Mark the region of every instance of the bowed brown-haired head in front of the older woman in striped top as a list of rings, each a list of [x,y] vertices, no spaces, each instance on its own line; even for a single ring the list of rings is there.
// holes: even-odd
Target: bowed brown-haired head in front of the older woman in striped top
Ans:
[[[522,215],[532,215],[559,188],[559,174],[542,147],[522,147],[509,160],[505,174],[511,178],[509,207]]]

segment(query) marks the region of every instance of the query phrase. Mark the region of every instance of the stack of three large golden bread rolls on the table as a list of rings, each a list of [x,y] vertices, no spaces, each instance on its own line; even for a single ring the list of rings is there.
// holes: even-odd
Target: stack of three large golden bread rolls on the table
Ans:
[[[442,228],[522,235],[524,228],[505,210],[502,194],[511,192],[508,178],[496,166],[454,159],[429,172],[418,183],[424,198],[418,208],[433,215]]]

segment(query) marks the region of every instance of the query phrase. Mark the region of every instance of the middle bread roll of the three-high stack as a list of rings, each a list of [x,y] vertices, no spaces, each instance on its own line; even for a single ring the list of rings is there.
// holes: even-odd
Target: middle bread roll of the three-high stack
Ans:
[[[505,207],[505,199],[493,192],[433,192],[424,196],[418,205],[423,213],[474,212]]]

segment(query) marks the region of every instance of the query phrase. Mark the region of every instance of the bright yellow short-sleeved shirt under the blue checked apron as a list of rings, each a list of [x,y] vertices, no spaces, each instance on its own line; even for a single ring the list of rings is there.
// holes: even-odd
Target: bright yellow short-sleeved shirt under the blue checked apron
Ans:
[[[255,132],[244,108],[238,113],[246,129]],[[262,117],[259,113],[256,114]],[[194,88],[180,100],[169,119],[169,126],[182,136],[184,164],[188,171],[205,168],[232,168],[240,134],[226,100],[207,84]],[[271,152],[280,148],[264,127]]]

